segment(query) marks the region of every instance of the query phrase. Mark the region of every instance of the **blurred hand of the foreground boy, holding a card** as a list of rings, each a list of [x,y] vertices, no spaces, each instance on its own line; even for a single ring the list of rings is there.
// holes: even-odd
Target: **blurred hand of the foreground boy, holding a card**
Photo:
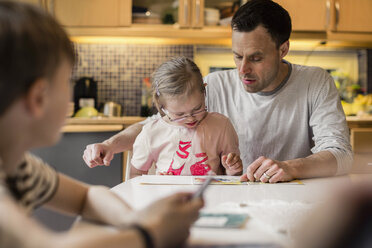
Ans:
[[[177,193],[151,204],[136,216],[154,239],[155,247],[181,247],[189,236],[204,202],[191,199],[191,193]]]

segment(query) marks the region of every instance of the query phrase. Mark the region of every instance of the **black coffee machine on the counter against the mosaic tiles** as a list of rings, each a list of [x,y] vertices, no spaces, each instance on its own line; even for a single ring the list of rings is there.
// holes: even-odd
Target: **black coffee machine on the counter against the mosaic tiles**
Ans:
[[[74,112],[83,107],[97,108],[97,82],[91,77],[79,78],[74,86]]]

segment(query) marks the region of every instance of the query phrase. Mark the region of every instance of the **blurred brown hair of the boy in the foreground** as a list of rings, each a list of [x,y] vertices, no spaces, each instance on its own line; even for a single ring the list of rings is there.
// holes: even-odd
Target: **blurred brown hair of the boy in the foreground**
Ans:
[[[0,1],[0,116],[35,80],[51,79],[64,59],[73,64],[73,45],[51,15]]]

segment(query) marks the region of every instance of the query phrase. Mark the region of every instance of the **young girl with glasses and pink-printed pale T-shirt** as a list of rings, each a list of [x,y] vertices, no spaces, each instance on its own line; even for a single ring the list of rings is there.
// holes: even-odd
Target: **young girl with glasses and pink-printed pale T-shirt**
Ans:
[[[238,136],[227,117],[207,112],[194,62],[179,57],[163,63],[152,87],[161,118],[147,123],[133,145],[132,177],[147,174],[153,162],[161,175],[241,175]]]

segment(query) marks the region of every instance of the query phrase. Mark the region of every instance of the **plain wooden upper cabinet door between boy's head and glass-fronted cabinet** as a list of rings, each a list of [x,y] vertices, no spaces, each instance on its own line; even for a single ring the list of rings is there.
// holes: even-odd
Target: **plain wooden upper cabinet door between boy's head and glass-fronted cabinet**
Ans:
[[[47,8],[66,27],[124,27],[131,24],[131,0],[49,0]]]

